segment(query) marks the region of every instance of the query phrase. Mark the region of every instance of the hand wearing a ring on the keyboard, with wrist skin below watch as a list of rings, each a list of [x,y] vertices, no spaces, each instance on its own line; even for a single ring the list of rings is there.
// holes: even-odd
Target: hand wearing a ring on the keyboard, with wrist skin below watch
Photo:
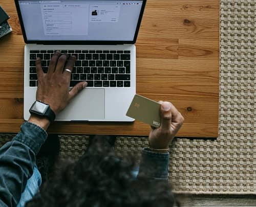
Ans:
[[[70,78],[71,73],[65,71],[69,69],[73,71],[76,57],[68,58],[67,54],[56,52],[49,63],[48,72],[45,74],[42,71],[40,58],[36,59],[36,73],[37,73],[37,90],[36,101],[41,101],[50,106],[55,114],[63,110],[68,103],[87,86],[87,82],[80,82],[76,84],[71,90]],[[32,122],[45,130],[49,127],[50,122],[47,118],[39,117],[31,114],[29,122]]]

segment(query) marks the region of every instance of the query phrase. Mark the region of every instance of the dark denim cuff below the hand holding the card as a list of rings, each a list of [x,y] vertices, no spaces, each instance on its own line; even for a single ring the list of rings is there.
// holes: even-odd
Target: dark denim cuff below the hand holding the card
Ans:
[[[152,179],[168,179],[169,153],[152,152],[144,148],[141,154],[138,178],[143,175]]]

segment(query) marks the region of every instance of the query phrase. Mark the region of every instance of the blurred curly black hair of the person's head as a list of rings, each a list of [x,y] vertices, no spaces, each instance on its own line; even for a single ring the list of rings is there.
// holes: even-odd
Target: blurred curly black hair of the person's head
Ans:
[[[135,165],[131,154],[95,142],[78,162],[62,161],[56,176],[26,206],[173,206],[176,200],[169,183],[143,175],[134,178]]]

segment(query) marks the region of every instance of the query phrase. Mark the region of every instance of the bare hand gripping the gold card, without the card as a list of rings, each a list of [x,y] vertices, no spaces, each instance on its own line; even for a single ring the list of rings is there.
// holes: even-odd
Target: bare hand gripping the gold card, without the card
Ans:
[[[148,144],[152,149],[168,149],[174,136],[184,122],[181,113],[170,102],[159,101],[161,104],[161,126],[152,128],[148,137]]]

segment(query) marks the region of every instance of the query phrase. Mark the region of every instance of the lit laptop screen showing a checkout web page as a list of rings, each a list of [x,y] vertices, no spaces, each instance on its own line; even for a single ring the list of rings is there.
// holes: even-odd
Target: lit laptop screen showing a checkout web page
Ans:
[[[142,1],[19,1],[29,41],[132,41]]]

